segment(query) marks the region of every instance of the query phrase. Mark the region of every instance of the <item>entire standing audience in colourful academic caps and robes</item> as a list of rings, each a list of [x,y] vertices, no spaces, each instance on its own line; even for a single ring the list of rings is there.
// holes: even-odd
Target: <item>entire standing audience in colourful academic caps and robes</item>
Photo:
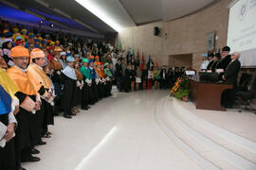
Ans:
[[[36,145],[51,138],[54,116],[71,119],[99,100],[119,92],[170,89],[184,68],[158,68],[156,60],[132,54],[105,41],[0,26],[0,169],[22,170],[24,161],[40,161]],[[145,64],[144,64],[145,63]]]

